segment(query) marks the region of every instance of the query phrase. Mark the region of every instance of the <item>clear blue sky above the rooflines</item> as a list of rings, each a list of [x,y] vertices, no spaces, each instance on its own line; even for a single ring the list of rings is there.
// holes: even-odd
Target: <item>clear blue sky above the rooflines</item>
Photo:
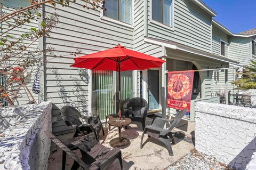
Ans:
[[[217,12],[215,20],[233,33],[256,28],[256,0],[202,0]]]

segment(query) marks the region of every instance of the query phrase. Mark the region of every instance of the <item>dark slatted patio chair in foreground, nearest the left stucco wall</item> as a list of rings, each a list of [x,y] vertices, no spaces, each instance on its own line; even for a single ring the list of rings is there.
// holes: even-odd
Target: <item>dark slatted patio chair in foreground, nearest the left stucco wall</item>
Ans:
[[[78,169],[80,166],[83,169],[107,169],[108,166],[113,163],[116,159],[119,160],[121,169],[123,168],[122,163],[122,153],[118,148],[110,150],[109,148],[104,147],[99,144],[95,136],[90,133],[84,136],[78,136],[79,139],[75,140],[73,143],[70,143],[69,147],[62,143],[54,134],[51,132],[45,132],[46,136],[51,139],[52,142],[58,145],[63,152],[67,153],[71,158],[73,158],[74,164],[71,169]],[[82,157],[79,158],[70,147],[78,147],[82,153]],[[65,169],[65,164],[62,169]]]

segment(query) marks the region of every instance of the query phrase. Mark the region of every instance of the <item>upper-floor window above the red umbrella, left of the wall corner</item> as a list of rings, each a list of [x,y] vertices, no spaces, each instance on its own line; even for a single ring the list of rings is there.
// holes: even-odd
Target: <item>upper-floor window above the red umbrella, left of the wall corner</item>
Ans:
[[[104,15],[132,25],[132,0],[106,0]]]

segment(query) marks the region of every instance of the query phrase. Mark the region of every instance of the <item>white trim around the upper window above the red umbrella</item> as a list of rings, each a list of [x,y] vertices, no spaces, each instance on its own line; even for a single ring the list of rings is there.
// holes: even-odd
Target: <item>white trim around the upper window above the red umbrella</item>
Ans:
[[[123,21],[119,21],[119,20],[115,20],[113,18],[110,18],[110,17],[107,17],[104,15],[104,10],[103,9],[100,9],[100,19],[101,20],[105,20],[105,21],[109,21],[109,22],[113,22],[113,23],[116,23],[118,25],[121,25],[121,26],[125,26],[125,27],[128,27],[128,28],[134,28],[134,11],[133,11],[133,6],[134,6],[134,1],[132,1],[132,24],[130,23],[126,23],[126,22],[123,22]],[[119,8],[118,8],[119,9]]]

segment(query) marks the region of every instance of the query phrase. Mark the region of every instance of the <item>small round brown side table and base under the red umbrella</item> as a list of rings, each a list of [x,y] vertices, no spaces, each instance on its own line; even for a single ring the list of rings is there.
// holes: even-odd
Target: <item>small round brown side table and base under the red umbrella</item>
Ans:
[[[111,118],[108,121],[108,124],[111,126],[118,127],[118,137],[111,139],[109,142],[110,146],[113,148],[126,148],[131,144],[131,141],[125,137],[121,136],[121,129],[132,123],[132,120],[129,118],[121,118],[122,121],[118,121],[119,118]]]

